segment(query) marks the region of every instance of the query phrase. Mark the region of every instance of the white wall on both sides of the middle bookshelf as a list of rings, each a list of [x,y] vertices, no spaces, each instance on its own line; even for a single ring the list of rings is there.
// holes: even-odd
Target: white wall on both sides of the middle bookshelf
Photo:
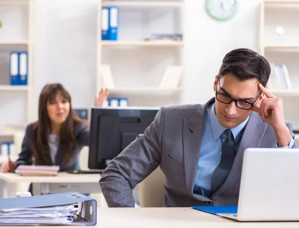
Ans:
[[[216,21],[205,11],[205,0],[186,0],[186,92],[183,102],[211,98],[221,60],[231,49],[258,50],[258,5],[239,0],[236,15]],[[35,93],[47,82],[61,82],[74,107],[93,104],[96,93],[97,0],[36,0]]]

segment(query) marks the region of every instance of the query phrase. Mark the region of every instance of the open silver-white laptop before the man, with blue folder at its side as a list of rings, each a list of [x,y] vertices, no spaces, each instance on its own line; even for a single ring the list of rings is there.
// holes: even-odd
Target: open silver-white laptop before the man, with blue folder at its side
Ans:
[[[299,221],[299,149],[246,149],[238,206],[213,210],[237,221]]]

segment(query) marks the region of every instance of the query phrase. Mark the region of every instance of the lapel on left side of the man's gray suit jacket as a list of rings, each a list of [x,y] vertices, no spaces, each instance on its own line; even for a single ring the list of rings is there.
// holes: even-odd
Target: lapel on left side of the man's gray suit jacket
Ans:
[[[206,108],[214,101],[211,99],[206,104],[201,105],[189,119],[184,118],[183,121],[185,178],[187,191],[190,195],[193,195]]]

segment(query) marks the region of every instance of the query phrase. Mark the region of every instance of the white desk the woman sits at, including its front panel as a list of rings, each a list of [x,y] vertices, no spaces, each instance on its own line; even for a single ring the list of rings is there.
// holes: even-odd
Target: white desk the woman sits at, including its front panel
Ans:
[[[33,184],[33,194],[62,192],[100,193],[100,174],[58,173],[54,177],[26,177],[14,173],[0,173],[0,198],[15,197],[16,185],[20,182]]]

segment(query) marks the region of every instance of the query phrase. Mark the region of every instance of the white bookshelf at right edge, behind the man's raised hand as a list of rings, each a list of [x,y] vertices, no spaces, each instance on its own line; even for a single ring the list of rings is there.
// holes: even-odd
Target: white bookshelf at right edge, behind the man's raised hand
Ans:
[[[278,83],[270,83],[269,90],[283,98],[285,119],[299,130],[299,0],[264,0],[259,20],[260,53],[272,64],[270,80]],[[283,65],[286,70],[279,71]]]

